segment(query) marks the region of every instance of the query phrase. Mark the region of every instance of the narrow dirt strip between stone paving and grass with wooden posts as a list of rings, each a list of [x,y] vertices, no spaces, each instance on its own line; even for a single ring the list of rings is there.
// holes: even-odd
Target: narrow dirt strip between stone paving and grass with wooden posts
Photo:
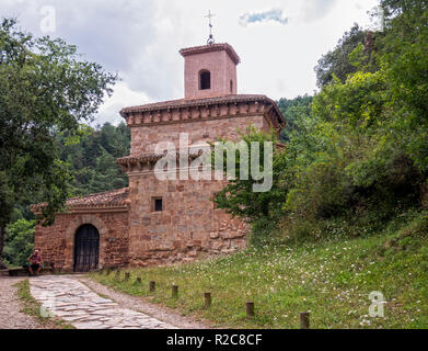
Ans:
[[[180,329],[210,329],[212,328],[207,322],[200,320],[193,320],[188,317],[182,316],[180,313],[172,308],[162,307],[155,304],[151,304],[137,296],[130,296],[116,292],[115,290],[99,284],[89,278],[79,278],[79,280],[89,286],[92,291],[116,302],[123,308],[131,308],[134,310],[141,312],[153,318],[163,320]]]

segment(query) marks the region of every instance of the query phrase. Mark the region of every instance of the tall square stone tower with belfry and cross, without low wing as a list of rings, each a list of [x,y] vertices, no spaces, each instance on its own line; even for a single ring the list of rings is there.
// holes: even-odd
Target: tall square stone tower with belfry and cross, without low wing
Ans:
[[[239,131],[247,126],[279,133],[286,124],[274,100],[238,94],[240,57],[231,45],[215,43],[211,31],[206,45],[180,53],[185,61],[184,99],[120,112],[131,132],[130,155],[117,160],[129,179],[131,267],[189,262],[244,248],[247,224],[216,208],[211,201],[228,180],[190,176],[198,157],[196,146],[219,138],[238,140]],[[158,177],[157,165],[164,157],[158,149],[160,143],[167,145],[170,155],[174,148],[178,152],[175,163],[172,160],[177,168],[170,172],[175,179]],[[186,172],[189,177],[181,177]]]

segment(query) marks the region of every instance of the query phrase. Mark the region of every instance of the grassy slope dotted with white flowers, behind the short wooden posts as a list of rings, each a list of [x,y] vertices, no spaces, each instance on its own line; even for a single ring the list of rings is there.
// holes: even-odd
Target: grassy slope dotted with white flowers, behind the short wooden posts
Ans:
[[[401,225],[397,225],[401,223]],[[115,273],[91,274],[100,283],[201,317],[218,327],[428,328],[428,217],[397,219],[383,233],[358,238],[252,248],[230,257],[166,268],[132,269],[128,282]],[[136,284],[136,278],[142,284]],[[157,291],[149,292],[149,282]],[[171,297],[171,285],[180,297]],[[370,318],[369,294],[386,299],[385,317]],[[204,309],[204,293],[212,306]],[[245,317],[245,302],[256,316]]]

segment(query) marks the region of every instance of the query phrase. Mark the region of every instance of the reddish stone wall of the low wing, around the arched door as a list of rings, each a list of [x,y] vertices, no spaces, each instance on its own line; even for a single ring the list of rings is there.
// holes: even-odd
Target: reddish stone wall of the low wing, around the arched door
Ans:
[[[100,234],[99,267],[122,267],[129,263],[128,212],[59,214],[51,227],[36,226],[35,248],[44,261],[63,271],[73,270],[74,235],[79,227],[92,224]]]

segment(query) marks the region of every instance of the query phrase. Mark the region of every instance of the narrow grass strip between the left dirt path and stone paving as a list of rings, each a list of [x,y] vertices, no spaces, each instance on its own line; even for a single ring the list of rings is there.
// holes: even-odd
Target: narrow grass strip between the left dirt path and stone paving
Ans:
[[[37,302],[30,293],[28,280],[23,280],[15,284],[18,287],[18,296],[22,303],[22,313],[35,317],[37,321],[47,329],[76,329],[59,318],[44,317],[41,314],[42,304]]]

